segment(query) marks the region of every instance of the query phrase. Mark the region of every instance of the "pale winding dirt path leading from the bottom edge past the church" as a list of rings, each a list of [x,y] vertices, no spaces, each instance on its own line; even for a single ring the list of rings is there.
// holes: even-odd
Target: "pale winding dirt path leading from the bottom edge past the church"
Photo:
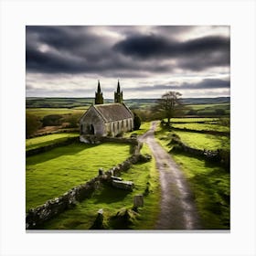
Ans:
[[[162,197],[160,215],[155,229],[200,229],[197,208],[187,180],[171,155],[155,141],[157,122],[151,123],[147,133],[139,137],[148,144],[160,174]]]

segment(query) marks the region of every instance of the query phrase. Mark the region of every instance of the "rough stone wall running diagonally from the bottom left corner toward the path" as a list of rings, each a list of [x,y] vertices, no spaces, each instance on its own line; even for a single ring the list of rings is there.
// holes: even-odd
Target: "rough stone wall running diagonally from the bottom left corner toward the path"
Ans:
[[[133,155],[123,161],[123,163],[112,167],[106,172],[100,170],[99,176],[92,178],[85,184],[71,188],[65,194],[48,200],[42,206],[29,209],[26,216],[26,229],[41,229],[48,219],[56,217],[68,208],[72,208],[77,202],[91,197],[93,191],[100,187],[101,182],[111,183],[112,176],[119,176],[121,172],[127,171],[133,164],[150,160],[151,157],[149,155],[140,155],[141,146],[142,144],[139,143],[134,145]]]

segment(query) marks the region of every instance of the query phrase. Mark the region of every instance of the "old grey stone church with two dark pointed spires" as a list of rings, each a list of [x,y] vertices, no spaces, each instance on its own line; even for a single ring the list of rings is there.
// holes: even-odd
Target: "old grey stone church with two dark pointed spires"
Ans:
[[[108,104],[104,104],[98,81],[95,104],[80,118],[80,134],[115,137],[129,131],[133,131],[133,112],[123,103],[119,80],[114,92],[114,103]]]

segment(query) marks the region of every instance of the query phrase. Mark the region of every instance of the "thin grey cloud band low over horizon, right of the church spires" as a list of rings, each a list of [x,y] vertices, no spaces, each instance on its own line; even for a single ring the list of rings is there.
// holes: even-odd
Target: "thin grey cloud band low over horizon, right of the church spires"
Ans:
[[[180,85],[157,84],[154,86],[140,86],[127,88],[125,91],[158,91],[158,90],[207,90],[207,89],[229,89],[229,80],[206,79],[197,83],[184,82]]]

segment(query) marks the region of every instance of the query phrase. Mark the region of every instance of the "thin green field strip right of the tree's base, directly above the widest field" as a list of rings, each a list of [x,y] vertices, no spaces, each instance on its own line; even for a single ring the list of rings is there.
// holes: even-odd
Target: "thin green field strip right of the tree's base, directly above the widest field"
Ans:
[[[190,130],[197,131],[218,131],[218,132],[228,132],[230,131],[229,126],[223,126],[218,124],[206,124],[206,123],[173,123],[172,127],[174,128],[187,128]]]

